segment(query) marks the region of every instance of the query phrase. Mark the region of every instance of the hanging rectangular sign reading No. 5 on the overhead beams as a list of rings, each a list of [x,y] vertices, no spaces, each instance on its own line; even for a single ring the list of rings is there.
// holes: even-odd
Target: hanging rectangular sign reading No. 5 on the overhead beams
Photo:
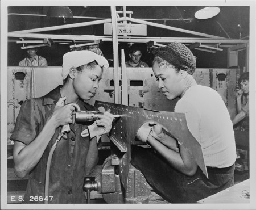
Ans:
[[[104,34],[112,35],[112,24],[104,23]],[[147,36],[147,25],[119,23],[117,24],[117,35]]]

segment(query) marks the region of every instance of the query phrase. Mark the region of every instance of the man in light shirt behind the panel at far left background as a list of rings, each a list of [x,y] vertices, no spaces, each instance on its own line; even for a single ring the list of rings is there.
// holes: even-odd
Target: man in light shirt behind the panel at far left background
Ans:
[[[41,66],[47,67],[47,60],[42,56],[38,56],[36,52],[38,52],[38,48],[30,48],[26,49],[27,57],[19,62],[19,66]]]

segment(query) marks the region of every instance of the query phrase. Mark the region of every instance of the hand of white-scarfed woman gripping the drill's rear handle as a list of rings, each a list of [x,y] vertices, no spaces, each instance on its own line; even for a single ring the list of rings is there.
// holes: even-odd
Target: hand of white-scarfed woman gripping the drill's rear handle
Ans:
[[[56,124],[56,128],[59,126],[72,123],[72,114],[73,114],[73,111],[75,110],[75,107],[69,104],[64,106],[65,100],[66,100],[66,97],[63,97],[57,101],[51,116],[51,119]]]

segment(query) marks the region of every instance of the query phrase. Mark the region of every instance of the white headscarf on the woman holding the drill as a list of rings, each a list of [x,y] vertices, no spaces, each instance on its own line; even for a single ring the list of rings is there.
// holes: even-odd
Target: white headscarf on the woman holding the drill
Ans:
[[[69,69],[77,68],[79,66],[89,64],[90,62],[96,61],[98,65],[104,68],[109,67],[109,63],[105,57],[99,56],[92,51],[71,51],[63,56],[62,65],[62,78],[63,80],[67,78],[69,74]]]

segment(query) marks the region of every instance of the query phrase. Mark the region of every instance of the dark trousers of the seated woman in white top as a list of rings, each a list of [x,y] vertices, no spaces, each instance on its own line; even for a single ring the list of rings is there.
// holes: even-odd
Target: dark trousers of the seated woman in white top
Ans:
[[[154,191],[170,203],[196,203],[234,185],[234,164],[207,167],[208,177],[198,167],[192,177],[184,175],[152,149],[133,146],[131,164],[141,171]]]

